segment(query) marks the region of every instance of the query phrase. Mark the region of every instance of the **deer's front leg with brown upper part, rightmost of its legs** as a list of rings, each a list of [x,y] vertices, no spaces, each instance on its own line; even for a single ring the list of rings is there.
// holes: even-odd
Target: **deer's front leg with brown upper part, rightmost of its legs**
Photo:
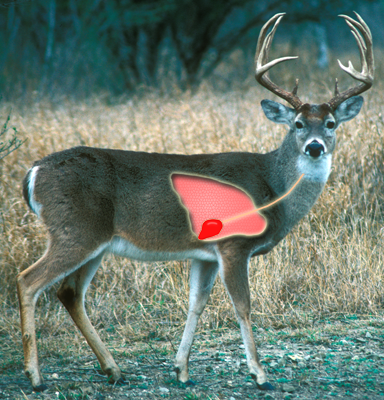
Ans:
[[[229,254],[228,254],[229,253]],[[221,277],[231,297],[241,329],[249,372],[261,390],[274,390],[259,362],[250,319],[251,304],[248,283],[248,254],[222,254]]]

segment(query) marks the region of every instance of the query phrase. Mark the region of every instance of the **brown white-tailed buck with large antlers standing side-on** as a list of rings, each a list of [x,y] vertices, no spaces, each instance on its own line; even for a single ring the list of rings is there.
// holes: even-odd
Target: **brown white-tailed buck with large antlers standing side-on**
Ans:
[[[270,120],[287,124],[281,146],[267,154],[157,154],[75,147],[37,161],[24,179],[24,197],[48,228],[46,253],[17,276],[25,373],[35,391],[46,388],[38,365],[35,305],[41,292],[63,280],[58,297],[98,358],[109,382],[123,382],[121,371],[91,325],[84,297],[106,253],[135,260],[191,259],[189,312],[176,355],[175,370],[189,383],[188,359],[194,332],[218,271],[232,299],[243,337],[248,368],[257,387],[273,389],[256,353],[250,320],[248,263],[271,251],[311,209],[331,170],[335,131],[360,111],[357,96],[372,86],[373,52],[370,30],[363,19],[342,16],[357,40],[362,71],[352,64],[340,67],[359,81],[323,104],[303,104],[292,92],[268,77],[274,65],[296,57],[268,62],[276,28],[284,14],[276,14],[262,28],[256,49],[256,80],[293,108],[263,100]],[[267,31],[272,26],[271,32]],[[357,97],[356,97],[357,96]],[[255,204],[289,196],[263,211],[268,221],[259,236],[232,236],[203,241],[191,231],[188,215],[172,189],[173,173],[196,174],[243,188]]]

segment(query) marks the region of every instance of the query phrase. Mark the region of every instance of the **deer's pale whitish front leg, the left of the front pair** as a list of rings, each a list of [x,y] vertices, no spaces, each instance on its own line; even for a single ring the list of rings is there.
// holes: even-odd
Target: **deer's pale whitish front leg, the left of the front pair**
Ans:
[[[177,379],[186,384],[194,384],[189,379],[188,374],[189,354],[191,352],[197,323],[209,299],[209,294],[215,282],[218,269],[219,265],[217,262],[192,261],[188,317],[175,362]]]

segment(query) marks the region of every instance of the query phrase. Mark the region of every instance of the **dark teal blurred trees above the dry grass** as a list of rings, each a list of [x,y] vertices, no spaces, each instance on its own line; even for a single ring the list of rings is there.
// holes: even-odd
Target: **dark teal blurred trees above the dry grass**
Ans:
[[[383,0],[1,0],[0,93],[228,90],[253,79],[260,27],[287,12],[274,47],[327,69],[356,43],[338,14],[360,13],[377,50]],[[294,54],[292,54],[292,52]],[[358,64],[358,61],[357,61]],[[248,81],[249,84],[249,81]]]

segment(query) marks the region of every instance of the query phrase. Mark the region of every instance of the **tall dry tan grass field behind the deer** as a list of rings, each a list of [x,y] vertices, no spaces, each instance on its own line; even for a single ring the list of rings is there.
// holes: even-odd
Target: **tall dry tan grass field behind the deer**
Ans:
[[[375,321],[375,326],[383,328],[380,322],[384,304],[381,70],[379,65],[378,79],[374,88],[364,94],[365,103],[359,116],[338,130],[332,173],[311,213],[270,254],[251,261],[256,337],[260,329],[296,331],[300,335],[307,329],[316,335],[329,321],[337,321],[335,329],[340,331],[343,321],[351,319],[363,320],[367,326]],[[279,83],[292,85],[292,69],[282,66],[280,71],[284,79]],[[328,100],[332,88],[329,76],[340,77],[341,73],[336,69],[326,76],[310,72],[304,59],[297,72],[299,77],[304,76],[299,91],[303,93],[302,99]],[[345,78],[340,86],[352,84]],[[21,181],[33,161],[80,144],[183,154],[264,153],[278,147],[286,127],[266,119],[260,107],[263,98],[273,96],[249,79],[225,93],[215,91],[207,83],[193,95],[167,97],[147,91],[113,103],[102,95],[79,102],[69,97],[42,98],[37,93],[12,104],[0,103],[0,122],[5,122],[12,110],[10,125],[16,127],[20,139],[27,139],[17,151],[0,161],[0,372],[27,388],[23,389],[27,394],[15,389],[14,396],[9,398],[35,398],[28,397],[31,390],[22,374],[15,287],[18,271],[35,262],[46,244],[44,226],[28,210],[21,196]],[[88,290],[89,317],[110,348],[119,343],[120,355],[122,349],[124,354],[140,354],[141,343],[157,345],[165,341],[165,355],[172,361],[188,309],[188,274],[188,262],[138,263],[109,256]],[[57,300],[57,288],[55,285],[40,296],[36,312],[43,374],[44,362],[52,359],[59,375],[64,368],[63,360],[76,359],[80,365],[97,364]],[[200,335],[211,335],[211,339],[212,335],[234,332],[239,342],[232,305],[219,280],[198,329]],[[263,343],[258,343],[262,349]],[[112,353],[115,354],[114,350]],[[68,379],[74,375],[75,369]],[[58,393],[57,398],[99,398],[52,390]],[[167,392],[163,394],[166,397]],[[105,396],[100,398],[108,398]],[[186,399],[230,398],[213,394],[198,397],[192,392],[185,396],[195,396]],[[136,398],[141,397],[136,395]]]

